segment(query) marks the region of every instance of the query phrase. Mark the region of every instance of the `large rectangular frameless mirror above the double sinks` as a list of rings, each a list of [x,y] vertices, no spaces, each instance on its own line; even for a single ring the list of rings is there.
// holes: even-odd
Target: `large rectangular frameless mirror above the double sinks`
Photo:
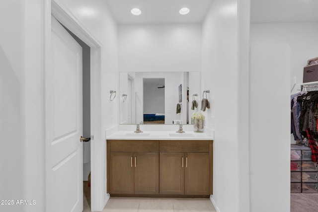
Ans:
[[[191,124],[200,72],[120,72],[120,124]],[[191,109],[192,101],[197,107]]]

